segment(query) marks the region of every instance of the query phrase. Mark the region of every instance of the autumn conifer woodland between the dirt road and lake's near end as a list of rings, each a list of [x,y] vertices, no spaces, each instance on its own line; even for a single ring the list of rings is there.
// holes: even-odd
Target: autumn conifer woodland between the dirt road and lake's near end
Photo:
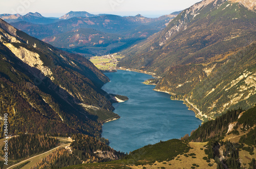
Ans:
[[[71,143],[71,150],[57,149],[37,163],[33,169],[61,168],[84,162],[105,162],[118,160],[125,156],[124,153],[113,150],[108,145],[89,135],[75,134],[72,139],[74,139],[74,142]],[[97,150],[102,151],[102,154],[95,153]]]

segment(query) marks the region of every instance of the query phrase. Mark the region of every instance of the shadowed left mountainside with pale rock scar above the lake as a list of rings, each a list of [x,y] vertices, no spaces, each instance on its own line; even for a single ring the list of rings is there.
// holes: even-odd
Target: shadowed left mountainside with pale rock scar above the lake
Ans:
[[[8,114],[9,134],[100,136],[99,122],[117,118],[110,111],[114,109],[111,97],[100,89],[109,79],[90,61],[30,37],[3,20],[0,37],[1,124]],[[91,109],[97,110],[91,115]]]

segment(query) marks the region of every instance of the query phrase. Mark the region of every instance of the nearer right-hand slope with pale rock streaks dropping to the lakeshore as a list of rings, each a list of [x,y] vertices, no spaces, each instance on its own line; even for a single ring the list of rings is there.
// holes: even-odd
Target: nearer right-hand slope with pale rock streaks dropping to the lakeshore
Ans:
[[[205,64],[176,66],[156,90],[182,95],[197,117],[215,119],[226,109],[249,108],[256,94],[256,43]]]

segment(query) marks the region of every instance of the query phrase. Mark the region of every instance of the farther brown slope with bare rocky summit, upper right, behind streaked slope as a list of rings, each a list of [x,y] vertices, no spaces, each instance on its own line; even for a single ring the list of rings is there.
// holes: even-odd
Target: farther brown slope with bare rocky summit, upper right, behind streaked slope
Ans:
[[[152,36],[146,43],[122,52],[127,57],[120,66],[133,65],[134,68],[160,74],[177,64],[200,62],[246,46],[253,42],[250,37],[254,36],[256,30],[254,16],[255,12],[248,11],[238,3],[202,1],[184,10],[164,31]],[[240,42],[241,38],[248,41]],[[223,47],[223,43],[228,42]],[[141,62],[135,63],[135,60]]]

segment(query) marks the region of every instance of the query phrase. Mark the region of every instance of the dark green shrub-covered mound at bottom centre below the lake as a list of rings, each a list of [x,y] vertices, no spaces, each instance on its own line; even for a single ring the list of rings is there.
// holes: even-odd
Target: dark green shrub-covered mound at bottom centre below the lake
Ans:
[[[104,163],[80,164],[65,168],[132,168],[154,163],[170,161],[179,154],[188,152],[190,147],[179,139],[171,139],[155,145],[148,145],[133,151],[125,159]],[[142,168],[142,167],[141,167]]]

